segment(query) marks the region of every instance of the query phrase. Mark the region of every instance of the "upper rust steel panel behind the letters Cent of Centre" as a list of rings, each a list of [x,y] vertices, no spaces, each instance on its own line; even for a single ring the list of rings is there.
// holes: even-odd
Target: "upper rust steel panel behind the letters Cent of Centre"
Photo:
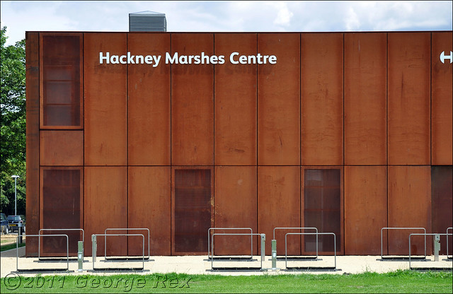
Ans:
[[[256,55],[256,34],[215,36],[214,53],[224,64],[214,66],[215,164],[256,165],[256,64],[231,64],[231,52]]]

